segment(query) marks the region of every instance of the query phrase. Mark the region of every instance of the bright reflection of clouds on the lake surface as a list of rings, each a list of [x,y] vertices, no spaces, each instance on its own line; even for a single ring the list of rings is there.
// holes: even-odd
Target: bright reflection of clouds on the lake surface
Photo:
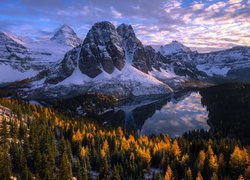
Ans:
[[[206,108],[201,105],[200,94],[188,93],[181,100],[171,99],[157,110],[145,121],[140,134],[167,133],[171,137],[177,137],[189,130],[207,130],[207,116]]]

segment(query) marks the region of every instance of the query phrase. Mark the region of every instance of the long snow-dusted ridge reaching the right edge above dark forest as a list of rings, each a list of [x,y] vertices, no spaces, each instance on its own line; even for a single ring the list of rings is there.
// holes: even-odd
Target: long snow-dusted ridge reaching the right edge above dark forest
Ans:
[[[250,83],[250,47],[247,46],[209,53],[187,51],[164,56],[173,62],[178,59],[181,63],[195,64],[200,72],[215,82]]]

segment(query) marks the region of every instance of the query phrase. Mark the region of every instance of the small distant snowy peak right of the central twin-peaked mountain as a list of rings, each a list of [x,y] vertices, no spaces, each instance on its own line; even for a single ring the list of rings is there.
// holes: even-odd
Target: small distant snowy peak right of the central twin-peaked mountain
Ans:
[[[161,46],[160,52],[162,55],[166,56],[166,55],[171,55],[171,54],[176,54],[176,53],[191,52],[191,49],[187,46],[184,46],[180,42],[174,40],[170,44]]]

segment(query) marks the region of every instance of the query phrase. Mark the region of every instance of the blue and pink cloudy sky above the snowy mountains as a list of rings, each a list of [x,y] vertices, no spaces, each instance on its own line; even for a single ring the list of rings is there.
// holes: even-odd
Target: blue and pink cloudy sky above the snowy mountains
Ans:
[[[131,24],[145,45],[177,40],[193,50],[250,46],[250,0],[0,0],[0,31],[46,39],[63,24]]]

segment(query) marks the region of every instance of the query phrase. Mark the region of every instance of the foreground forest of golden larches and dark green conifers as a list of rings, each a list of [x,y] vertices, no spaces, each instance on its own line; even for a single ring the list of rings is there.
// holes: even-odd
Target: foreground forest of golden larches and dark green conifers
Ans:
[[[206,132],[172,139],[103,129],[49,108],[0,99],[0,179],[249,179],[249,145]]]

